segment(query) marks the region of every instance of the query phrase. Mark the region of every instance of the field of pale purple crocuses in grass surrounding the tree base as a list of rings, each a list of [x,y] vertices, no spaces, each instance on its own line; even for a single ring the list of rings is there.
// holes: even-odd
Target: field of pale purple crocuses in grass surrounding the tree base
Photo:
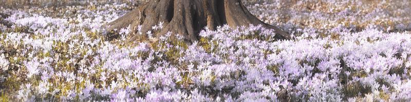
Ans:
[[[139,1],[3,3],[0,101],[411,101],[410,1],[244,2],[294,39],[226,25],[107,41]]]

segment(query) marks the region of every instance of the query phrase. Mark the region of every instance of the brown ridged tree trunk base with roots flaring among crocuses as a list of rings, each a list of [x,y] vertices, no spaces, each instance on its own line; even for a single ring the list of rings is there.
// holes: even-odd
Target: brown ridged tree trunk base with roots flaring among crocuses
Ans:
[[[172,32],[187,41],[198,40],[198,33],[206,26],[215,30],[223,24],[232,28],[261,24],[265,28],[274,29],[277,39],[291,38],[286,32],[252,15],[240,0],[151,0],[108,23],[106,30],[109,33],[106,36],[109,39],[115,38],[118,36],[115,30],[120,31],[128,25],[131,25],[132,32],[137,32],[137,26],[143,25],[140,32],[145,33],[159,22],[163,22],[163,29],[156,32],[156,36]],[[135,39],[133,37],[130,40]]]

